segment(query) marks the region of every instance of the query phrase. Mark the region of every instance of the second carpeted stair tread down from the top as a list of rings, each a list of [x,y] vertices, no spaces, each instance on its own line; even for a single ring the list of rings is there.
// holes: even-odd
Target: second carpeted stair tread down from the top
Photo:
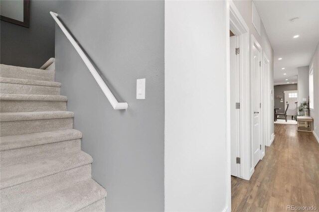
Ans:
[[[60,95],[0,94],[2,101],[56,101],[66,102],[68,98]]]

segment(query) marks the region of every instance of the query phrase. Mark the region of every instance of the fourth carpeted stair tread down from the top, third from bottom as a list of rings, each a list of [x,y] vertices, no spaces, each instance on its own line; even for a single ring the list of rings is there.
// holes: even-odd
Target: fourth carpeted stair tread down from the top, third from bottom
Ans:
[[[4,136],[0,139],[0,150],[17,149],[28,146],[55,143],[82,138],[82,132],[76,129],[64,129],[49,132],[36,132],[22,135]]]

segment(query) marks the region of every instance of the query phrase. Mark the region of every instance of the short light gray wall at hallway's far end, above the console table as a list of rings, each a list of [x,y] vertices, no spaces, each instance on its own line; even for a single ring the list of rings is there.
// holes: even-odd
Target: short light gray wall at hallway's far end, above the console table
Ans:
[[[298,67],[298,106],[309,101],[309,66]]]

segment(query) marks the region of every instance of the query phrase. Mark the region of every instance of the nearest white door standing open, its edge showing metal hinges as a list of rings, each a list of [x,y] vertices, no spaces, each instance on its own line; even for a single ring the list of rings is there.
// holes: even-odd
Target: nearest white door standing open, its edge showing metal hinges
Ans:
[[[239,164],[236,158],[239,155],[239,109],[236,109],[236,103],[239,103],[239,76],[238,76],[238,57],[236,55],[237,37],[230,37],[230,174],[239,176]]]

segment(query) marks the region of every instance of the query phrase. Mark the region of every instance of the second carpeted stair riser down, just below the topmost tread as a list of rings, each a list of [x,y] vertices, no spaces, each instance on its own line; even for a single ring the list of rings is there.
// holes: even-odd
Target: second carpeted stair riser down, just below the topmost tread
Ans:
[[[60,87],[1,83],[1,94],[60,95]]]

